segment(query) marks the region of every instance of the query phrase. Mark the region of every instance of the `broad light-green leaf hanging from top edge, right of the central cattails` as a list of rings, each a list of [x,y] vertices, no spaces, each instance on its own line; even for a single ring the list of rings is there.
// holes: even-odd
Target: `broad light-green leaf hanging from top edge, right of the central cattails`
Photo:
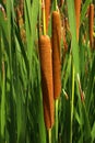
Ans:
[[[74,1],[67,0],[68,2],[68,14],[69,14],[69,24],[70,24],[70,31],[71,31],[71,48],[72,48],[72,56],[73,56],[73,63],[75,73],[80,73],[79,68],[79,45],[76,41],[76,30],[75,30],[75,14],[74,14]]]

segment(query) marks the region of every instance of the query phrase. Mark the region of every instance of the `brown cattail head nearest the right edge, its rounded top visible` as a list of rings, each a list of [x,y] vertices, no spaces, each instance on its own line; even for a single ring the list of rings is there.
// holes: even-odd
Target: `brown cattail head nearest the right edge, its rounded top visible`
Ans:
[[[93,47],[94,44],[94,37],[93,37],[93,32],[94,32],[94,4],[90,4],[90,14],[88,14],[88,31],[90,31],[90,45]]]

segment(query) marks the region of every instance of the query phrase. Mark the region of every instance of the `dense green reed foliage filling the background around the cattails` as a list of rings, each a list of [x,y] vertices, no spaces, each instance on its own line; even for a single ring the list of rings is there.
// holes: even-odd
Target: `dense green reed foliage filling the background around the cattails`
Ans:
[[[95,52],[88,45],[88,19],[85,16],[90,2],[84,0],[82,4],[78,43],[74,1],[67,0],[70,32],[64,61],[61,40],[59,143],[95,142]],[[17,0],[7,0],[5,4],[0,0],[0,143],[46,143],[37,43],[41,26],[40,0],[24,0],[24,14],[19,18],[23,22],[20,23],[17,4]],[[52,1],[52,9],[54,4]],[[60,11],[66,12],[64,4]],[[49,24],[49,35],[50,28]],[[54,132],[55,127],[52,143]]]

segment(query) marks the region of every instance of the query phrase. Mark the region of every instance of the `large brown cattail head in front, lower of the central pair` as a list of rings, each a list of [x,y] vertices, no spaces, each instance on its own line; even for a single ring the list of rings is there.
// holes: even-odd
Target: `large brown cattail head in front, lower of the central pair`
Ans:
[[[54,125],[54,84],[51,43],[48,35],[39,37],[39,57],[41,70],[41,90],[44,103],[44,119],[47,129]]]

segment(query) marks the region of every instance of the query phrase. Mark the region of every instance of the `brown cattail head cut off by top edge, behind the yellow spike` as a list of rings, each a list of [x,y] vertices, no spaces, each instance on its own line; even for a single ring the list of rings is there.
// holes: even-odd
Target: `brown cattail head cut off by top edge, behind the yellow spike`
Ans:
[[[48,31],[51,0],[45,0],[46,32]]]

